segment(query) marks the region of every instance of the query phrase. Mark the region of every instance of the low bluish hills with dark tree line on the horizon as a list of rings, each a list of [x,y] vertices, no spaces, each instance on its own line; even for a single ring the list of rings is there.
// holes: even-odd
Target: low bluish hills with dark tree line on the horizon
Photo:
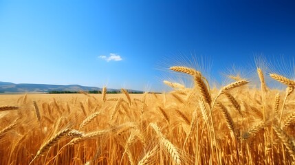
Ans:
[[[50,91],[101,91],[98,87],[85,87],[81,85],[45,85],[45,84],[14,84],[0,81],[0,93],[47,93]],[[107,89],[107,91],[120,91],[120,89]],[[136,91],[136,90],[129,90]],[[140,92],[140,91],[137,91]]]

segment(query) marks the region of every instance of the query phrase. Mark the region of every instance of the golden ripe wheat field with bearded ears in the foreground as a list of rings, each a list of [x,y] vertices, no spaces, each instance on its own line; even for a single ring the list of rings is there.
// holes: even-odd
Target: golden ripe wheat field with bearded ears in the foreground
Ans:
[[[0,95],[0,164],[295,164],[295,81],[257,69],[216,89],[162,94]],[[285,85],[267,87],[265,76]]]

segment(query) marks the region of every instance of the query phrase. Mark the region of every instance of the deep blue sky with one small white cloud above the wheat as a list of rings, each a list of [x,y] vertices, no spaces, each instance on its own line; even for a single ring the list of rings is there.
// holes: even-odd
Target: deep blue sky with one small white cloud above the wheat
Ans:
[[[159,63],[295,56],[291,1],[0,1],[0,81],[161,90]],[[173,60],[174,59],[174,60]],[[164,66],[167,67],[167,66]]]

